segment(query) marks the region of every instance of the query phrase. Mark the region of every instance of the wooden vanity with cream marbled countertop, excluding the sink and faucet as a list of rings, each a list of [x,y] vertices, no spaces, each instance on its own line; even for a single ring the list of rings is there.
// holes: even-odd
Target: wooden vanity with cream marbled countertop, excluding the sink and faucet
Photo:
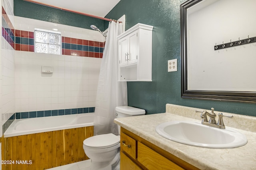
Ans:
[[[248,139],[246,145],[238,148],[213,149],[189,146],[163,138],[155,131],[159,124],[172,120],[200,123],[200,114],[195,110],[204,109],[167,104],[166,113],[116,118],[114,122],[121,126],[120,170],[256,169],[255,117],[223,113],[234,116],[233,119],[225,119],[225,125],[241,132]]]

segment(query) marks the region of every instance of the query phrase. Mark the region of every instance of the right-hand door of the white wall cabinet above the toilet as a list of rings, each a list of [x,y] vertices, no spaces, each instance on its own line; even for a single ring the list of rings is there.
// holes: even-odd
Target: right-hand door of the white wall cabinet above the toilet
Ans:
[[[129,34],[129,53],[128,53],[128,64],[134,64],[137,62],[137,48],[138,48],[138,38],[137,31]]]

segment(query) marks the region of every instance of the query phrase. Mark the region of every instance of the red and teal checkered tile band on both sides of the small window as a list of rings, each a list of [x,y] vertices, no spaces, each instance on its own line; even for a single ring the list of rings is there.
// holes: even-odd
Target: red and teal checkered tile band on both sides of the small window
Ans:
[[[34,52],[34,32],[15,30],[2,6],[2,36],[14,50]],[[62,55],[102,58],[105,42],[62,36]]]

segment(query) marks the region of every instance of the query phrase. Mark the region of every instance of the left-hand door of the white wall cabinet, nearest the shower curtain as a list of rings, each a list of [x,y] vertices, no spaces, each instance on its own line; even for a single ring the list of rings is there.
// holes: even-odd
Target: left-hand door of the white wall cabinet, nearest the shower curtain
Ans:
[[[127,64],[128,59],[128,37],[119,40],[119,66]]]

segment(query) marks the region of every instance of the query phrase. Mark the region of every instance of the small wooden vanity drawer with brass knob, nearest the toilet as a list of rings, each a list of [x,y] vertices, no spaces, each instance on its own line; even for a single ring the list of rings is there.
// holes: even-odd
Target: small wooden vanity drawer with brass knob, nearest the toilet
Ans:
[[[136,140],[123,132],[121,132],[120,147],[121,151],[126,152],[134,160],[136,159]]]

